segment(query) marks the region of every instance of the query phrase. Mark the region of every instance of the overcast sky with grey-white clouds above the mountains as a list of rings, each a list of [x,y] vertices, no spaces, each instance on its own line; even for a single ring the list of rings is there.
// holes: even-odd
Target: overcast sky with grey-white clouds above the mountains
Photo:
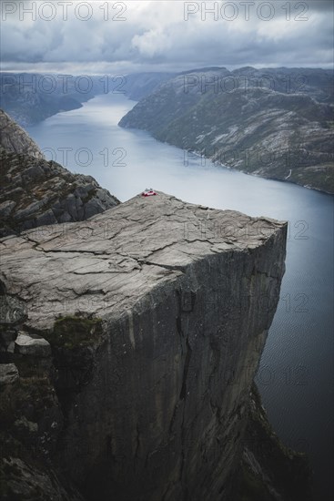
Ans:
[[[333,2],[1,2],[2,69],[333,66]]]

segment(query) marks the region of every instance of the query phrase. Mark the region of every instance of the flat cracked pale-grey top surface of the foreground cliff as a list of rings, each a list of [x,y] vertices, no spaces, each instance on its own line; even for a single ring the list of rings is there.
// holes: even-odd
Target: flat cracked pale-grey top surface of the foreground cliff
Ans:
[[[160,192],[90,220],[9,236],[0,244],[2,269],[7,288],[25,301],[28,322],[46,329],[64,312],[65,300],[68,313],[118,315],[153,288],[183,279],[201,260],[226,254],[233,264],[242,253],[250,255],[282,227]],[[268,281],[279,276],[280,264],[270,263]]]

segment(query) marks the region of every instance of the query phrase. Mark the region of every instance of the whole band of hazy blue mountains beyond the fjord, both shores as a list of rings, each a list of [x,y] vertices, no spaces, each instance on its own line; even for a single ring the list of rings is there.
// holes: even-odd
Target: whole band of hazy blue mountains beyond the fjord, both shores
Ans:
[[[334,193],[333,71],[199,68],[115,77],[3,74],[3,107],[28,126],[98,94],[139,101],[119,122],[217,165]]]

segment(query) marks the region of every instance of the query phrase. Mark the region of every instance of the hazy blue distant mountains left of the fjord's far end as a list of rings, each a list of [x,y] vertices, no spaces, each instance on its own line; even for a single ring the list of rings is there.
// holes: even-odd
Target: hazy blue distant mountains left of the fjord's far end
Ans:
[[[136,73],[127,76],[73,76],[0,73],[1,107],[22,127],[82,107],[99,94],[124,94],[139,100],[154,92],[175,73]]]

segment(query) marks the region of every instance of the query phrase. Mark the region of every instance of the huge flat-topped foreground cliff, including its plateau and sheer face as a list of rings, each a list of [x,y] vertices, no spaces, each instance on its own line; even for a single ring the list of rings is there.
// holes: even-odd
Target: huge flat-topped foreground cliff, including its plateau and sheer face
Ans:
[[[286,228],[158,193],[2,239],[5,499],[29,446],[52,499],[234,499]]]

